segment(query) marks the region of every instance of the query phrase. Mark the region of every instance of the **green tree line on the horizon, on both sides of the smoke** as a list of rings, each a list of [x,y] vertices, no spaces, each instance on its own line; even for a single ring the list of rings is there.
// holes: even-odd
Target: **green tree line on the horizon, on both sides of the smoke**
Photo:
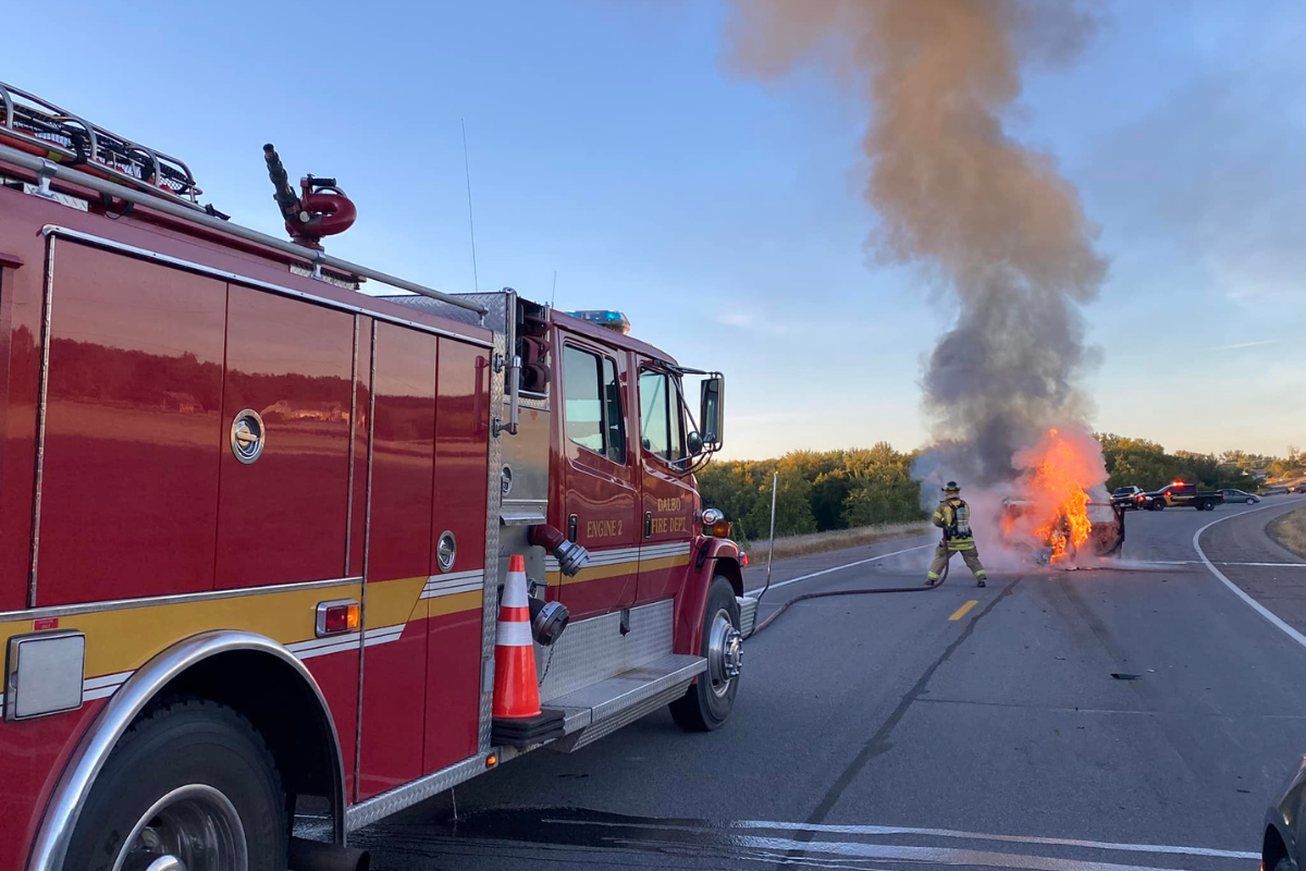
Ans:
[[[1245,451],[1220,454],[1166,451],[1147,439],[1096,434],[1106,461],[1110,490],[1135,484],[1157,490],[1171,481],[1205,488],[1256,488],[1254,471],[1271,478],[1306,474],[1306,456],[1289,448],[1286,457]],[[918,451],[902,453],[887,441],[848,451],[791,451],[771,460],[714,462],[697,475],[703,504],[720,508],[741,541],[760,541],[771,531],[772,475],[776,488],[776,535],[802,535],[832,529],[923,520],[921,482],[912,478]]]

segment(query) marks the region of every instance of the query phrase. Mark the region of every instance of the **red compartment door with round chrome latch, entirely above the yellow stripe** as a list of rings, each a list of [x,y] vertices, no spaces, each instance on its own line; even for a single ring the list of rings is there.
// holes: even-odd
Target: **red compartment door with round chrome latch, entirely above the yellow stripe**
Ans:
[[[345,577],[354,316],[232,285],[226,360],[218,589]]]

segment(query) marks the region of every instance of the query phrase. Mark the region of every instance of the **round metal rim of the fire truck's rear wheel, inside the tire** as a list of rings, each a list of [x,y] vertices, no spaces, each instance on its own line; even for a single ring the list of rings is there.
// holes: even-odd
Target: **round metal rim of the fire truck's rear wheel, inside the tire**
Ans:
[[[249,853],[240,815],[205,784],[179,786],[132,828],[114,871],[247,871]]]

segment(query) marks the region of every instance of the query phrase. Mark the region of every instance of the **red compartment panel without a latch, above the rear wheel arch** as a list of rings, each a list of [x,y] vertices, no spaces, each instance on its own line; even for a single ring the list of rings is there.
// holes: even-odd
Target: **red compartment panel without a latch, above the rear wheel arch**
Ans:
[[[213,589],[226,295],[55,243],[37,605]]]

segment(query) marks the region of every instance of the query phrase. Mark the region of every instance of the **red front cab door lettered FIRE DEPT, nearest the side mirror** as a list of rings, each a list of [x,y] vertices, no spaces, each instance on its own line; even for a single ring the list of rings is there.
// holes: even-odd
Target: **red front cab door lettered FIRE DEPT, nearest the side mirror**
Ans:
[[[650,368],[648,360],[640,364],[639,409],[643,512],[636,599],[656,602],[675,595],[684,580],[697,504],[692,479],[677,474],[688,457],[675,376]]]

